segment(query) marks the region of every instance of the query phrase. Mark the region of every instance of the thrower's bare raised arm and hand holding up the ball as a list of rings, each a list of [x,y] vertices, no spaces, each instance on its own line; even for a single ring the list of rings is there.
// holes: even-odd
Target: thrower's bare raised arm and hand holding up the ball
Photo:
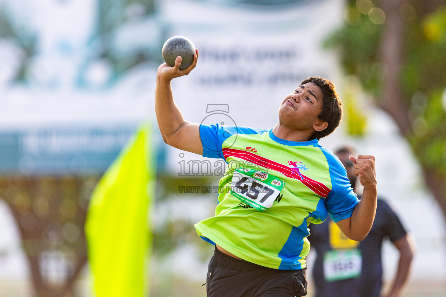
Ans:
[[[194,62],[186,69],[180,70],[181,57],[175,60],[175,66],[169,67],[166,63],[158,67],[157,85],[155,90],[155,113],[157,114],[158,127],[165,143],[190,151],[195,154],[203,154],[203,146],[199,136],[199,124],[186,122],[177,104],[173,101],[173,93],[170,81],[190,73],[197,65],[198,49],[195,50]]]

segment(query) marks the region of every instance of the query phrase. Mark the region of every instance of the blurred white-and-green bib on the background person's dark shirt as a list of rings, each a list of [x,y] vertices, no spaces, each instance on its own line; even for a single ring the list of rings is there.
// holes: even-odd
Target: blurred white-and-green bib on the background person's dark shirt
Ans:
[[[339,281],[361,275],[362,255],[359,249],[344,249],[326,252],[324,277],[326,281]]]

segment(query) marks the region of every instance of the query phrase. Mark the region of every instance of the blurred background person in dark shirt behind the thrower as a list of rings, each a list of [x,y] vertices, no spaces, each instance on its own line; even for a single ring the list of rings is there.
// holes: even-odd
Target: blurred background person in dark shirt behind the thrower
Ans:
[[[347,170],[353,189],[356,176],[350,147],[335,152]],[[383,297],[397,297],[401,292],[413,258],[413,246],[400,220],[388,204],[378,197],[375,221],[361,242],[348,239],[330,216],[322,224],[310,224],[308,239],[317,253],[313,268],[316,297],[377,297],[382,285],[381,246],[388,237],[400,252],[396,277],[390,292]]]

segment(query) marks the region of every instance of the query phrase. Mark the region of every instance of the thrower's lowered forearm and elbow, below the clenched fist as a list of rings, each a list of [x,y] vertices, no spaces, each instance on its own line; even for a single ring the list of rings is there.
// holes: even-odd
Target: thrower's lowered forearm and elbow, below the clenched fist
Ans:
[[[348,238],[361,241],[372,228],[376,212],[376,187],[364,187],[361,200],[356,205],[350,218]]]

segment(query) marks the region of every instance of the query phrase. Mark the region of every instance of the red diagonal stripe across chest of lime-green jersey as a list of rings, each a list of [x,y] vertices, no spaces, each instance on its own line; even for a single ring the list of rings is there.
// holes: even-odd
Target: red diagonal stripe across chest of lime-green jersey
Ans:
[[[278,171],[281,174],[291,177],[293,179],[299,180],[301,183],[306,185],[311,191],[316,193],[317,195],[326,198],[328,193],[330,193],[330,188],[324,185],[321,182],[318,182],[317,180],[310,179],[308,176],[305,176],[302,174],[304,179],[301,179],[301,177],[295,173],[293,173],[292,169],[284,164],[277,163],[273,160],[266,159],[264,157],[261,157],[259,155],[256,155],[250,151],[242,151],[237,149],[231,149],[231,148],[223,148],[223,156],[225,159],[228,157],[237,157],[240,159],[244,159],[245,161],[252,162],[258,166],[262,166],[274,171]]]

